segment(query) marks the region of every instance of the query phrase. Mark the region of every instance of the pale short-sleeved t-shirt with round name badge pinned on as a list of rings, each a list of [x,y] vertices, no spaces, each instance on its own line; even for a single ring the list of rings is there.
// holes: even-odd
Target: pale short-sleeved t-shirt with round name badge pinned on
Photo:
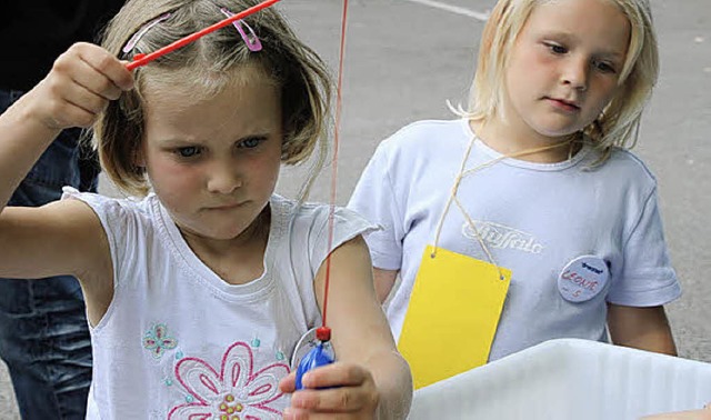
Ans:
[[[465,150],[467,120],[420,121],[383,141],[349,208],[383,229],[365,236],[373,266],[400,270],[387,308],[395,339],[402,329],[424,247],[432,244]],[[495,262],[512,270],[490,361],[555,338],[607,340],[607,302],[649,307],[681,293],[670,266],[657,204],[657,182],[632,153],[615,149],[602,167],[585,146],[559,163],[504,159],[463,178],[458,198]],[[467,169],[501,154],[479,139]],[[454,204],[439,247],[488,261]],[[609,267],[604,290],[583,302],[564,299],[559,276],[594,256]],[[454,346],[454,344],[453,344]]]

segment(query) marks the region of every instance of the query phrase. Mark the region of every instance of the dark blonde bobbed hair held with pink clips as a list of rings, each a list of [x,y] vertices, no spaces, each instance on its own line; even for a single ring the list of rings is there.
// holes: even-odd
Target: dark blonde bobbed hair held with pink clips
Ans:
[[[102,46],[123,60],[149,53],[222,19],[220,8],[237,13],[257,4],[254,0],[131,0],[104,31]],[[170,12],[148,30],[136,47],[123,53],[127,41],[147,22]],[[122,191],[143,196],[149,190],[144,168],[137,157],[144,140],[147,87],[187,86],[207,98],[229,86],[239,70],[257,66],[281,89],[283,143],[281,160],[304,162],[317,149],[318,159],[302,189],[302,198],[326,161],[328,151],[331,79],[319,56],[303,44],[274,8],[244,20],[259,37],[262,50],[252,52],[234,27],[217,30],[134,71],[136,89],[109,103],[94,126],[94,146],[109,178]]]

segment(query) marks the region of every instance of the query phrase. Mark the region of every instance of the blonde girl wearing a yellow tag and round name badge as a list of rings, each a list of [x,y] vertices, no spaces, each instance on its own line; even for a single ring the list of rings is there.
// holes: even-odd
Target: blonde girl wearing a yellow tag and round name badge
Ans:
[[[658,67],[647,0],[498,1],[462,118],[383,141],[349,204],[383,227],[367,236],[381,300],[401,277],[397,340],[433,244],[511,270],[489,360],[555,338],[675,353],[657,182],[625,150]]]

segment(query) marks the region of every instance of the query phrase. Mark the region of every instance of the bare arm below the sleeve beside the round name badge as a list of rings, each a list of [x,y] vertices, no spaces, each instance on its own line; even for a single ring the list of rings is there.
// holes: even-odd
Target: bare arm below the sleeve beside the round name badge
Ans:
[[[677,356],[664,307],[608,304],[608,328],[618,346]]]

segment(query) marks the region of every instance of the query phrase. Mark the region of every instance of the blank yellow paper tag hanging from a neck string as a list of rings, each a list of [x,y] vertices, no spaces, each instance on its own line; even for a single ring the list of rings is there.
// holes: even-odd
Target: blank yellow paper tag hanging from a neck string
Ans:
[[[487,363],[511,282],[510,270],[434,250],[422,256],[398,343],[415,389]]]

